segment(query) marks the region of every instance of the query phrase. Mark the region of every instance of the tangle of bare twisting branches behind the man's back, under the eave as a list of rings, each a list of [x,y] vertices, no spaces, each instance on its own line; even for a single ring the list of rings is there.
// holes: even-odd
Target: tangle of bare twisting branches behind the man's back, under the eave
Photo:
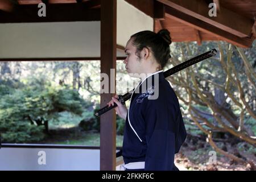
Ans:
[[[213,133],[228,133],[256,146],[256,42],[241,49],[225,42],[176,43],[168,67],[180,64],[212,48],[218,55],[201,61],[174,76],[168,77],[183,107],[190,125],[196,125],[207,135],[210,145],[223,155],[245,162],[214,143]],[[248,119],[254,118],[252,124]]]

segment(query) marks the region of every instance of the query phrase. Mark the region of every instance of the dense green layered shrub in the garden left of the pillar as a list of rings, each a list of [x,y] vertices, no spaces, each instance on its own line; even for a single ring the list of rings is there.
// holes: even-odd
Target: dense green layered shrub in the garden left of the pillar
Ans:
[[[42,140],[45,132],[41,125],[44,122],[64,121],[64,111],[81,115],[89,105],[77,90],[53,87],[42,79],[33,79],[22,89],[12,89],[6,85],[0,85],[0,88],[3,88],[0,93],[0,131],[3,142]]]

